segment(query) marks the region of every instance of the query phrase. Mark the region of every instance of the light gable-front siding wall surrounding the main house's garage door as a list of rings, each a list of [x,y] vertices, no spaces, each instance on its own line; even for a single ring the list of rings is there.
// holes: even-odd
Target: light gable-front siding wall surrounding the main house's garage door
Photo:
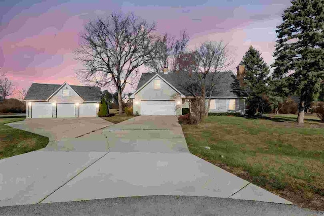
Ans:
[[[141,114],[141,100],[175,100],[176,115],[182,114],[182,99],[168,83],[161,80],[161,89],[154,89],[154,80],[161,80],[159,77],[152,79],[141,91],[135,95],[133,112]],[[180,101],[180,105],[178,105]]]

